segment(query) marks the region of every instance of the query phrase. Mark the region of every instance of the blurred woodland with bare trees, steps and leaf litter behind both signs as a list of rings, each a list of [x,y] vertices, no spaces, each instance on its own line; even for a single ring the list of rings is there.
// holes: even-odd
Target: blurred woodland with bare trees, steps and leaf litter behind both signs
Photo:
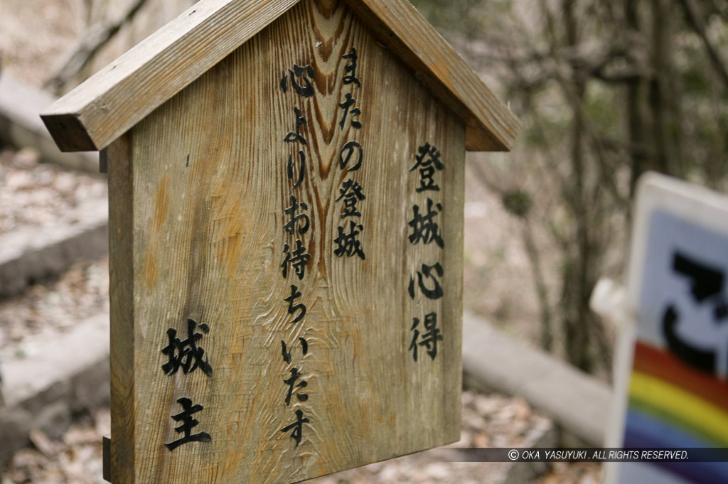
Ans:
[[[468,155],[465,323],[483,340],[475,360],[466,354],[459,445],[601,445],[615,334],[588,301],[600,277],[622,278],[641,173],[726,188],[728,3],[412,3],[523,122],[512,153]],[[56,153],[37,113],[191,4],[0,0],[1,484],[103,482],[109,433],[108,382],[89,370],[108,342],[88,338],[108,320],[106,180],[95,156]],[[488,365],[496,341],[513,358]],[[18,375],[51,348],[72,362],[16,391],[12,379],[33,381]],[[566,382],[561,398],[553,386],[524,386],[523,362]],[[597,464],[416,459],[323,480],[600,479]]]

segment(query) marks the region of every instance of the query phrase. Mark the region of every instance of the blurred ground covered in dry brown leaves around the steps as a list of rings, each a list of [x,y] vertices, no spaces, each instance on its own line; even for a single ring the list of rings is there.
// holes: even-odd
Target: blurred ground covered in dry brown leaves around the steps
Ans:
[[[2,71],[40,87],[60,55],[84,28],[83,0],[2,0]],[[63,216],[66,207],[106,190],[103,178],[38,163],[32,147],[0,153],[0,232],[40,225]],[[500,155],[494,155],[500,156]],[[482,161],[481,161],[482,162]],[[486,160],[487,162],[487,160]],[[537,304],[517,222],[499,199],[467,176],[465,201],[464,304],[520,338],[536,341]],[[63,331],[74,321],[108,311],[108,258],[78,263],[58,279],[39,281],[15,298],[0,301],[0,352],[33,352],[33,338]],[[547,419],[519,397],[467,391],[463,397],[461,446],[518,445]],[[60,440],[31,433],[33,446],[0,469],[0,484],[101,483],[100,439],[110,433],[108,408],[78,416]],[[409,459],[409,460],[408,460]],[[405,456],[324,477],[322,484],[488,482],[488,464],[413,464]],[[456,467],[472,465],[459,473]],[[475,469],[475,470],[473,470]],[[597,464],[558,464],[534,480],[542,484],[599,482]]]

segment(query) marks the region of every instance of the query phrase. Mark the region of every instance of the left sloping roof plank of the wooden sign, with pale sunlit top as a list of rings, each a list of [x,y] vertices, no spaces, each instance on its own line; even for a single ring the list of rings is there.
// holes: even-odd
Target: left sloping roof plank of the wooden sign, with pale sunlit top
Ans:
[[[298,0],[201,0],[41,114],[61,151],[106,148]]]

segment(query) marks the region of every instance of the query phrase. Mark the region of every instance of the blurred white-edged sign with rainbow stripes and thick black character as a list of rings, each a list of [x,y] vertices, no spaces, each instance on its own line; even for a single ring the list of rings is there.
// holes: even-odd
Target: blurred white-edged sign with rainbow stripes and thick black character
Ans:
[[[728,448],[728,198],[641,179],[610,447]],[[728,481],[727,462],[607,464],[608,483]]]

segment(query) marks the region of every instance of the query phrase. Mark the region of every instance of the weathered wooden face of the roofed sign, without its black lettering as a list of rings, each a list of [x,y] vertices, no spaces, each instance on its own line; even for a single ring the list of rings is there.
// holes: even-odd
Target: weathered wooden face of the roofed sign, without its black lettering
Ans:
[[[109,148],[115,484],[291,483],[459,439],[464,124],[345,4],[314,3],[301,1]],[[341,82],[352,47],[360,87]],[[282,92],[282,75],[309,64],[315,95]],[[347,92],[360,129],[339,125]],[[298,146],[284,141],[294,108],[307,122],[298,188],[286,170]],[[360,170],[339,164],[349,140],[363,147]],[[440,191],[416,191],[410,169],[424,143],[442,153]],[[349,179],[366,197],[356,218],[365,260],[334,254]],[[284,244],[298,238],[284,230],[291,195],[309,207],[300,280],[280,269]],[[443,206],[442,249],[408,240],[413,206],[427,198]],[[443,298],[411,299],[410,278],[435,262]],[[295,324],[284,301],[292,284],[307,308]],[[415,362],[413,318],[430,312],[443,340],[434,360],[420,346]],[[188,318],[209,326],[199,346],[212,376],[162,370],[167,330],[186,338]],[[286,405],[292,368],[307,386]],[[211,442],[169,451],[181,397],[204,407],[192,432]],[[295,410],[309,418],[300,445],[281,431]]]

